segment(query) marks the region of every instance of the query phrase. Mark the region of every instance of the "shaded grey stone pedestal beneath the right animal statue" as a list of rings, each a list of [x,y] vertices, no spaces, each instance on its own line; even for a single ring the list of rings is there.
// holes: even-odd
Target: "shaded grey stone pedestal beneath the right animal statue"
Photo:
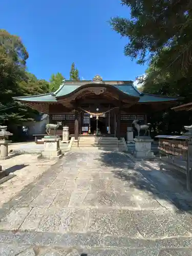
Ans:
[[[152,150],[153,139],[151,137],[137,137],[135,141],[134,155],[137,158],[153,158],[154,153]]]

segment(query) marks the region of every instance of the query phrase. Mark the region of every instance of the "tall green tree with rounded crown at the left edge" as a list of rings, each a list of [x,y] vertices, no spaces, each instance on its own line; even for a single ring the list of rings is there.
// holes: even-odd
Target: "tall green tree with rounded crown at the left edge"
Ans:
[[[26,79],[28,53],[18,36],[0,30],[0,122],[20,120],[22,115],[12,97],[21,94],[18,83]]]

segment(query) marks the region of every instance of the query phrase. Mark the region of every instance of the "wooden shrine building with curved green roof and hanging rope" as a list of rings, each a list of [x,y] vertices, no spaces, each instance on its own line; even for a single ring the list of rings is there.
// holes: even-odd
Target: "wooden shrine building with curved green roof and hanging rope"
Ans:
[[[147,114],[173,106],[179,98],[139,92],[133,81],[108,81],[95,76],[93,80],[63,80],[54,93],[14,97],[40,113],[49,114],[49,122],[69,126],[70,137],[112,135],[126,136],[127,126],[134,120],[147,123]],[[57,135],[62,134],[62,126]]]

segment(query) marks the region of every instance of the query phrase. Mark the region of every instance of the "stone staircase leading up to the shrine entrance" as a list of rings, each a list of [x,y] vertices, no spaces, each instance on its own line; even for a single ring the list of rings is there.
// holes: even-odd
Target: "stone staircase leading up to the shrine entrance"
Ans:
[[[74,137],[70,141],[71,149],[83,148],[89,150],[95,148],[104,151],[127,151],[124,138],[118,140],[115,137],[80,136],[78,141]]]

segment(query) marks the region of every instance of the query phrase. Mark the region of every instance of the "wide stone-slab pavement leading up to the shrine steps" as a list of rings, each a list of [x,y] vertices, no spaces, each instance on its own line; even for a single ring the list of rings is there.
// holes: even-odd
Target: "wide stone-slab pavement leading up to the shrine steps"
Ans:
[[[191,196],[156,162],[69,152],[2,206],[0,255],[192,255]]]

